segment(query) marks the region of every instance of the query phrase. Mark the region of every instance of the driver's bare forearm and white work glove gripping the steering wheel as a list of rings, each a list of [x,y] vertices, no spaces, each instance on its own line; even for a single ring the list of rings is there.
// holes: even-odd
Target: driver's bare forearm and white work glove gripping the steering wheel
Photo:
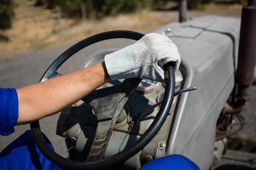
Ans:
[[[101,64],[17,89],[19,118],[15,125],[58,113],[111,79],[140,77],[164,82],[160,65],[168,62],[177,71],[180,54],[176,45],[164,35],[146,34],[133,45],[106,55]]]

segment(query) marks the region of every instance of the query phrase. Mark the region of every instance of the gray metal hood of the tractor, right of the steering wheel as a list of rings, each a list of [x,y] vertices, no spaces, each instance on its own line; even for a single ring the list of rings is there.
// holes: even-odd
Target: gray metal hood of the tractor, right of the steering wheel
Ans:
[[[195,23],[190,20],[187,25],[180,24],[180,29],[200,26],[197,24],[200,19],[203,22],[205,17],[194,20]],[[182,88],[195,85],[198,90],[179,96],[168,138],[169,147],[162,156],[182,154],[201,169],[208,170],[213,159],[216,121],[233,90],[236,69],[233,60],[237,59],[234,48],[239,41],[240,20],[213,16],[212,23],[201,26],[206,30],[193,40],[171,37],[182,58],[180,71],[185,80]],[[177,29],[178,23],[166,27]],[[164,28],[155,32],[161,33]]]

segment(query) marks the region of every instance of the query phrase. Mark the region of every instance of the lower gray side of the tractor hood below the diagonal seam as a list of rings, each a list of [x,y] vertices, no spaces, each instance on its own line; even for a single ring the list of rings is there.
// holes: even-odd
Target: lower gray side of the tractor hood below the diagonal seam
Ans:
[[[224,107],[224,104],[230,95],[230,91],[226,89],[232,89],[233,86],[234,79],[231,77],[223,91],[221,91],[221,94],[218,96],[218,99],[215,100],[207,115],[205,115],[204,119],[195,130],[189,143],[186,144],[186,147],[181,152],[182,155],[186,155],[189,159],[196,162],[202,170],[208,170],[209,166],[212,164],[216,122],[221,109]]]

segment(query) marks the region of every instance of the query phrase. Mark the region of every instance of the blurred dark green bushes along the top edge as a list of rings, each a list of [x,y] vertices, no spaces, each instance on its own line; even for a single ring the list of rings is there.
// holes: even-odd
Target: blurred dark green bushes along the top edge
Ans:
[[[35,6],[45,6],[48,9],[61,7],[65,17],[103,17],[119,13],[138,12],[145,8],[166,5],[178,0],[35,0]],[[218,3],[221,0],[187,0],[189,9],[199,8],[203,4]],[[246,0],[235,0],[244,4]],[[10,28],[14,19],[14,0],[0,0],[0,29]],[[232,1],[230,1],[232,2]]]

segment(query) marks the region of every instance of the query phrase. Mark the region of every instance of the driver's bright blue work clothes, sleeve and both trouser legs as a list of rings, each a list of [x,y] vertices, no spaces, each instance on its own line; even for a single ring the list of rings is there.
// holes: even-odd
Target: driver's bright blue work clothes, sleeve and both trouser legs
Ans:
[[[18,119],[18,96],[15,88],[0,88],[0,135],[12,134]],[[49,139],[43,134],[49,147]],[[36,146],[27,130],[0,153],[1,170],[61,170],[50,162]],[[148,162],[140,170],[200,170],[192,161],[181,155],[166,156]]]

